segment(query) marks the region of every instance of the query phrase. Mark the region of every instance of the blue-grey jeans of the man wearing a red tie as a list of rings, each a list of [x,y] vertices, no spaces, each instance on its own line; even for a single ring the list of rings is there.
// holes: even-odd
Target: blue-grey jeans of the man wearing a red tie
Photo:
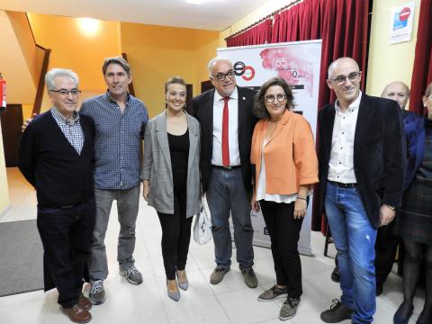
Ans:
[[[231,265],[232,243],[229,231],[229,211],[234,225],[234,241],[240,269],[249,269],[254,265],[254,249],[252,248],[254,229],[250,220],[248,196],[240,167],[231,170],[211,168],[207,201],[211,213],[216,265],[220,268],[229,269]]]

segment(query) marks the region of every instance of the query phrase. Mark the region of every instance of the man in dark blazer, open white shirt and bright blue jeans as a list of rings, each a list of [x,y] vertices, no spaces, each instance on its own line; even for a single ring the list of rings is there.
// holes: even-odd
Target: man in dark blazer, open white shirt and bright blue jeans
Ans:
[[[319,113],[320,208],[338,249],[341,302],[321,320],[372,323],[376,229],[390,223],[401,203],[406,148],[401,110],[392,100],[360,91],[353,58],[329,66],[327,84],[338,97]]]

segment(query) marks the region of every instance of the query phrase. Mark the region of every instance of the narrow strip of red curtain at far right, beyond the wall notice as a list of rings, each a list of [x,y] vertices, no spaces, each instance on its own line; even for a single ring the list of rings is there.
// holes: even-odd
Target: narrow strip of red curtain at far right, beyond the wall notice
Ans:
[[[432,0],[421,0],[416,54],[412,68],[410,111],[426,114],[421,97],[432,82]]]

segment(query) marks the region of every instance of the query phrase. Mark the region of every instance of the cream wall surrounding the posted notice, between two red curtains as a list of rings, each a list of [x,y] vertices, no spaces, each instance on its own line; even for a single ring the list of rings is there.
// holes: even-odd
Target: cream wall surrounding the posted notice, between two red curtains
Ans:
[[[385,85],[401,80],[410,86],[419,27],[420,0],[415,1],[414,24],[410,41],[389,45],[390,13],[392,7],[407,0],[374,1],[366,93],[381,95]]]

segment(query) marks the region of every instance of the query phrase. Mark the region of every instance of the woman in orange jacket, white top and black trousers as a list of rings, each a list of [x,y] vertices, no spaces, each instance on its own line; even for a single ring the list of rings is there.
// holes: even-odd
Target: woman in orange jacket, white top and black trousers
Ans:
[[[286,298],[280,320],[293,318],[300,304],[302,264],[297,244],[308,194],[318,182],[311,125],[292,112],[293,105],[293,92],[283,78],[271,78],[261,86],[254,107],[260,121],[250,155],[255,169],[252,208],[263,211],[276,273],[275,286],[259,295],[258,301]]]

